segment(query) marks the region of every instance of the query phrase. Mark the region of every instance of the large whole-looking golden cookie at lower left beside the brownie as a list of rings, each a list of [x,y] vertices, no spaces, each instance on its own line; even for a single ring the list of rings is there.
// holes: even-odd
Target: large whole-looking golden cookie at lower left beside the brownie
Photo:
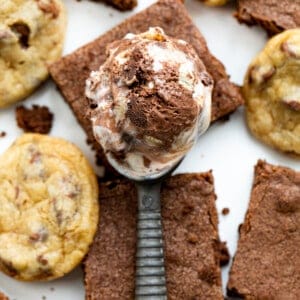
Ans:
[[[98,185],[73,144],[25,134],[0,156],[0,269],[50,280],[82,260],[98,222]]]

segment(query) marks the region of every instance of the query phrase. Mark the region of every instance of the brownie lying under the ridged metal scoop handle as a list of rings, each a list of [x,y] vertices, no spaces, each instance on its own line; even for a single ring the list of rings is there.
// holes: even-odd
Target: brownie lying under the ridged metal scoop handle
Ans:
[[[161,198],[168,299],[223,299],[224,244],[218,236],[211,172],[168,179]],[[98,232],[84,262],[86,299],[133,299],[137,214],[133,184],[100,184],[100,207]]]

